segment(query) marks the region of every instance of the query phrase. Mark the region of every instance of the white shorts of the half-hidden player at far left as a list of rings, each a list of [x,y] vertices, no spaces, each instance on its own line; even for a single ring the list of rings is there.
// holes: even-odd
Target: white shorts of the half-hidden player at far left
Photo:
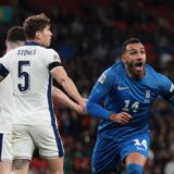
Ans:
[[[12,162],[12,135],[0,133],[0,161]]]

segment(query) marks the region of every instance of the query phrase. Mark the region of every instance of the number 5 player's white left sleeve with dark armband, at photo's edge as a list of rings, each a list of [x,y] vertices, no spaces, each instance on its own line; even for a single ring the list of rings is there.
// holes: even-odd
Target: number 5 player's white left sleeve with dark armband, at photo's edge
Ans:
[[[9,74],[9,58],[4,55],[0,59],[0,76],[5,77]]]

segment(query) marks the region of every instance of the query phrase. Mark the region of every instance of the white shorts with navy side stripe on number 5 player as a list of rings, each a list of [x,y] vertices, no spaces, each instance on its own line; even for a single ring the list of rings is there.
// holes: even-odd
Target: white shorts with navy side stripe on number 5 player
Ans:
[[[64,149],[57,126],[14,125],[13,158],[32,160],[35,148],[44,159],[64,156]]]

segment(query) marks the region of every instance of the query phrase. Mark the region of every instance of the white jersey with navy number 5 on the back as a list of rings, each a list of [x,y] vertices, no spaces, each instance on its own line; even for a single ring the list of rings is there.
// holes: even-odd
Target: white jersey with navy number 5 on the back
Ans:
[[[61,63],[58,53],[41,46],[23,46],[1,60],[12,78],[16,116],[14,124],[57,124],[52,109],[49,65]]]

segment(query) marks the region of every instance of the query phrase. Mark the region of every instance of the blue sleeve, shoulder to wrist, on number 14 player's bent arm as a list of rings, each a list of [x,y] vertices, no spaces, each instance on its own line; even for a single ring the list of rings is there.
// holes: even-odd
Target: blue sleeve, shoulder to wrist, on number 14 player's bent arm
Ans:
[[[100,105],[100,100],[103,99],[113,88],[114,77],[110,70],[105,71],[95,84],[88,102],[87,112],[95,117],[109,119],[112,112]]]

